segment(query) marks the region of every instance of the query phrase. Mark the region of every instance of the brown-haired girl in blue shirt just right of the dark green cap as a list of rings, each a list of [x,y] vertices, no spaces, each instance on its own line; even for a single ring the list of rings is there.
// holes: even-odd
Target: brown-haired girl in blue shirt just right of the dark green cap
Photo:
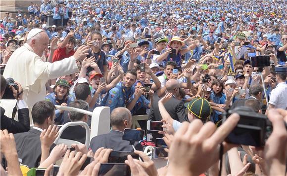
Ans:
[[[224,112],[226,95],[223,93],[224,85],[219,79],[215,79],[211,84],[210,105],[213,109],[211,121],[218,122],[220,115]]]

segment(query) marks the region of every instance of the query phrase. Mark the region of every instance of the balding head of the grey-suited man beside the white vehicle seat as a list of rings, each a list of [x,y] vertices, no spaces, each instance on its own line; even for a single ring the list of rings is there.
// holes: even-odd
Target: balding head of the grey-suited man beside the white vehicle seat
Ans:
[[[112,127],[116,127],[117,129],[125,128],[125,121],[132,124],[132,113],[125,107],[117,107],[111,112],[110,121]]]

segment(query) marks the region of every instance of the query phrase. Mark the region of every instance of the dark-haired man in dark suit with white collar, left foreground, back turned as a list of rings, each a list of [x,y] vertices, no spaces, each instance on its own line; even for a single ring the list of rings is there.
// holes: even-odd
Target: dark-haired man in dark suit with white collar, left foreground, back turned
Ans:
[[[55,106],[48,101],[37,102],[32,108],[32,119],[34,127],[25,133],[14,135],[18,157],[22,159],[22,164],[29,168],[37,168],[41,161],[41,141],[42,131],[53,126],[55,119]],[[50,146],[47,146],[50,148]],[[52,146],[53,147],[53,146]]]

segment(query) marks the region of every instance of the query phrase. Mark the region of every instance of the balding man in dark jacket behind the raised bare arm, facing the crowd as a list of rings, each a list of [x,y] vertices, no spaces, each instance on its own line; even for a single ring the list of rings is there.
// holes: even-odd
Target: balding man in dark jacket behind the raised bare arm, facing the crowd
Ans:
[[[167,103],[165,103],[165,109],[174,120],[177,120],[181,123],[188,121],[188,117],[185,113],[184,102],[176,98],[180,89],[179,82],[175,79],[170,79],[166,82],[165,87],[167,93],[173,94],[172,98]],[[154,101],[152,107],[150,108],[148,120],[160,121],[162,119],[158,109],[159,100],[160,98],[157,96],[157,94],[154,94]]]

